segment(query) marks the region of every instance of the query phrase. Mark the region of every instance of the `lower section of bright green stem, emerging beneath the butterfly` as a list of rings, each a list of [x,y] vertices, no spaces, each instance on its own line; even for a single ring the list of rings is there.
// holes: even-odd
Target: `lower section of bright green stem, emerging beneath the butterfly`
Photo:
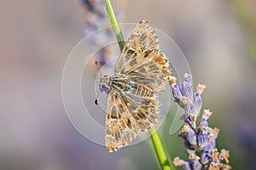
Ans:
[[[161,142],[161,139],[160,139],[159,133],[157,132],[157,129],[155,127],[151,127],[150,133],[151,133],[152,142],[154,144],[154,149],[157,153],[157,156],[159,158],[160,165],[161,165],[162,169],[163,170],[171,170],[172,168],[171,168],[169,160],[166,156],[166,151]]]

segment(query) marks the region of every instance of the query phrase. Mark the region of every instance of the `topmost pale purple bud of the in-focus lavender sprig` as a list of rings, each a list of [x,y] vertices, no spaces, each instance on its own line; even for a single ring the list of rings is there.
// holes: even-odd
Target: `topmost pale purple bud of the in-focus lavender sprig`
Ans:
[[[193,99],[192,76],[187,73],[184,76],[184,82],[181,87],[181,92],[183,96],[189,98],[192,101]]]

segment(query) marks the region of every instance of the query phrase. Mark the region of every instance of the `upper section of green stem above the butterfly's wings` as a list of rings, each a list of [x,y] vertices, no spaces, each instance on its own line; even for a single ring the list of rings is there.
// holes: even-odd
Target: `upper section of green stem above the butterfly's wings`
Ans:
[[[122,32],[119,27],[119,22],[116,19],[116,16],[113,11],[113,5],[110,0],[104,0],[104,3],[107,8],[108,15],[110,17],[110,22],[113,27],[114,35],[115,35],[117,41],[119,42],[119,48],[122,51],[122,49],[125,47],[125,42],[124,42],[124,37],[123,37]]]

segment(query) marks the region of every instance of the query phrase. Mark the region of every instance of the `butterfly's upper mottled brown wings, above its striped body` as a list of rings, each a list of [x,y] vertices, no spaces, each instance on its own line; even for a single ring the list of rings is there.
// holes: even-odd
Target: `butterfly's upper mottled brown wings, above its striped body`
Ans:
[[[148,77],[159,93],[164,90],[167,78],[171,76],[168,59],[160,54],[158,37],[146,21],[141,21],[125,42],[125,48],[115,65],[115,74],[139,73]]]

